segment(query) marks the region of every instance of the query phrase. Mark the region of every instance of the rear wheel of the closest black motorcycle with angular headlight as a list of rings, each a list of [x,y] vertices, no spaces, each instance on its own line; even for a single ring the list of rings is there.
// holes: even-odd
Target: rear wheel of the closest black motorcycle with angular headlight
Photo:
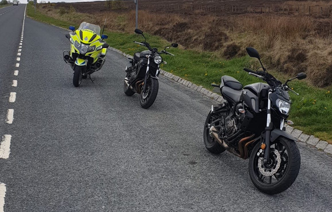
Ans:
[[[216,141],[213,137],[209,134],[209,127],[208,124],[216,120],[218,117],[213,117],[211,112],[207,115],[207,119],[205,121],[204,125],[204,145],[207,148],[207,150],[213,154],[220,154],[221,152],[225,151],[225,148],[223,148],[218,141]]]

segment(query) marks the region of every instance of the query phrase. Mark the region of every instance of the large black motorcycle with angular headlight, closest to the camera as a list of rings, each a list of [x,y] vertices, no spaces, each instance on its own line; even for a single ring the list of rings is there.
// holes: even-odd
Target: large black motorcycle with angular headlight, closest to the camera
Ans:
[[[225,150],[249,159],[249,175],[253,184],[262,192],[283,192],[295,181],[300,169],[300,153],[294,138],[285,132],[284,124],[290,114],[292,101],[287,83],[305,79],[305,73],[288,79],[284,84],[264,68],[259,53],[246,48],[250,57],[260,61],[263,71],[243,70],[267,83],[244,86],[230,76],[221,77],[220,88],[223,104],[212,105],[204,126],[204,144],[215,154]],[[258,70],[258,69],[257,69]]]

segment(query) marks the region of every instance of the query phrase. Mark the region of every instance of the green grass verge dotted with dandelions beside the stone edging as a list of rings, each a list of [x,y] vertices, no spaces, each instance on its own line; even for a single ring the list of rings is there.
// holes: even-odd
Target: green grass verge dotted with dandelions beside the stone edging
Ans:
[[[68,28],[69,25],[73,25],[78,27],[78,24],[56,20],[41,14],[39,11],[34,13],[31,5],[27,7],[27,14],[38,21],[55,26]],[[146,50],[146,48],[133,43],[133,40],[143,40],[140,35],[114,31],[105,31],[104,34],[108,34],[109,38],[106,41],[110,46],[127,54]],[[146,34],[146,37],[152,47],[161,49],[169,44],[158,36]],[[223,75],[232,76],[244,85],[261,81],[242,71],[243,67],[251,68],[252,65],[254,67],[257,65],[255,60],[248,56],[225,60],[215,53],[184,50],[181,47],[169,48],[168,51],[176,56],[162,55],[163,59],[167,61],[166,65],[162,65],[163,70],[210,90],[212,90],[210,84],[212,82],[219,84]],[[270,73],[282,81],[287,79],[282,73],[273,71],[270,71]],[[307,134],[314,134],[320,139],[332,143],[332,88],[319,89],[308,85],[305,81],[298,80],[290,82],[289,85],[300,94],[296,96],[290,93],[293,101],[290,120],[295,123],[295,127]],[[329,92],[330,89],[331,92]]]

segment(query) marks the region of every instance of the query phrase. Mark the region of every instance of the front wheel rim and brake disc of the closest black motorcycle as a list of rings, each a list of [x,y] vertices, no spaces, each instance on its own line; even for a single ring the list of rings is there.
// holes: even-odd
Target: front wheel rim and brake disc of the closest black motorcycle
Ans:
[[[276,142],[270,146],[270,161],[264,164],[263,157],[257,156],[260,148],[255,152],[254,173],[257,181],[265,186],[276,185],[281,181],[289,168],[289,151],[283,142]],[[254,152],[253,152],[254,153]]]

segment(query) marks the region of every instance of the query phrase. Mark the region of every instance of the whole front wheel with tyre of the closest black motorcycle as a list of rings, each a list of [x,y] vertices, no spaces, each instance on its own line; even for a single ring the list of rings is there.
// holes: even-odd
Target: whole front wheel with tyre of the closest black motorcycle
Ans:
[[[271,162],[268,164],[257,156],[260,146],[258,142],[250,155],[250,179],[264,193],[281,193],[294,183],[300,170],[301,157],[297,145],[288,138],[279,137],[270,145]]]

